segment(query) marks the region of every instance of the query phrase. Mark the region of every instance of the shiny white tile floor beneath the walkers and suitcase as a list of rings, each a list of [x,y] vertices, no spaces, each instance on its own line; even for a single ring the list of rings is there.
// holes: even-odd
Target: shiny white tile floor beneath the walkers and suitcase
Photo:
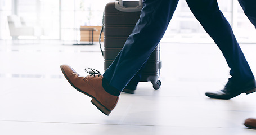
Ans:
[[[60,70],[61,64],[69,64],[82,75],[87,66],[103,73],[97,44],[30,42],[0,41],[1,135],[256,134],[242,125],[256,117],[256,93],[232,100],[204,96],[221,89],[228,78],[215,44],[161,43],[160,89],[140,83],[136,94],[122,93],[106,116],[91,98],[75,91]],[[241,48],[256,74],[256,44]]]

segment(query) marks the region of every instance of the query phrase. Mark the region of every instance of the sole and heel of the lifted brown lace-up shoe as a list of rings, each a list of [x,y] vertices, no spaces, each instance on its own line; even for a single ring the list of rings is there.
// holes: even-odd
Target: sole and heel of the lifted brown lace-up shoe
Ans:
[[[109,109],[107,109],[104,105],[102,105],[100,102],[97,101],[97,99],[95,97],[93,97],[92,95],[89,95],[88,93],[80,90],[79,88],[75,87],[73,83],[71,83],[71,81],[69,80],[69,78],[67,77],[64,69],[62,68],[62,65],[60,66],[60,69],[62,71],[62,73],[64,74],[64,77],[66,78],[66,80],[68,80],[68,82],[71,84],[72,87],[74,87],[75,89],[77,89],[77,91],[89,96],[92,98],[91,102],[93,105],[95,105],[97,107],[98,110],[100,110],[102,113],[104,113],[105,115],[109,116],[109,114],[111,113],[111,111]]]

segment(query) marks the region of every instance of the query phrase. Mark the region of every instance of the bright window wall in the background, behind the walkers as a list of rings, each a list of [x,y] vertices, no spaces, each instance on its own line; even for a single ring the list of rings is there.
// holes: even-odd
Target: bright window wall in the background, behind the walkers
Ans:
[[[111,0],[113,1],[113,0]],[[0,39],[11,39],[7,16],[24,17],[28,25],[43,27],[41,39],[79,40],[80,26],[101,26],[106,0],[0,0]],[[256,42],[256,30],[237,0],[218,0],[239,42]],[[210,42],[213,40],[180,0],[162,42]]]

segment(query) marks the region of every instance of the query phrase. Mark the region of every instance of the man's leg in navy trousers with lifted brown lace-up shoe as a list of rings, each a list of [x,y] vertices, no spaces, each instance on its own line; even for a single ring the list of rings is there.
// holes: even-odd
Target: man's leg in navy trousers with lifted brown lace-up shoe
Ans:
[[[68,82],[79,92],[92,97],[92,103],[109,115],[116,106],[120,92],[149,58],[163,37],[178,0],[145,0],[140,19],[123,49],[102,76],[97,70],[82,77],[70,66],[61,65]]]

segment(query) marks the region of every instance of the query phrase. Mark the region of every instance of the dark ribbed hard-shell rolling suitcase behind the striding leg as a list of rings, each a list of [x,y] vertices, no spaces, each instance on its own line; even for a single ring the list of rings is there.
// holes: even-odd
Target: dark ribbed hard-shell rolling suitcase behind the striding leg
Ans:
[[[104,69],[106,70],[114,61],[119,51],[123,48],[128,36],[140,17],[142,0],[140,1],[115,1],[106,4],[102,30],[104,31]],[[101,45],[100,45],[101,46]],[[140,82],[151,81],[154,89],[159,89],[160,75],[160,45],[147,60],[141,73]]]

